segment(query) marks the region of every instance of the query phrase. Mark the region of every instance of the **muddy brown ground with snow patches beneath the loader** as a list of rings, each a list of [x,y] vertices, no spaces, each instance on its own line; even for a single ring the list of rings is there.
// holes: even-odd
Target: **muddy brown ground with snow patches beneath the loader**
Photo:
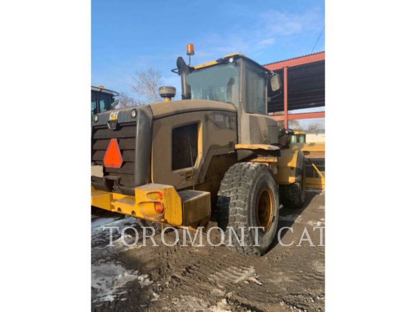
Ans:
[[[294,243],[277,244],[262,257],[210,246],[206,235],[204,247],[182,247],[182,240],[168,247],[160,234],[154,237],[158,247],[150,239],[144,247],[136,219],[94,210],[92,311],[324,311],[325,247],[318,246],[319,229],[313,230],[325,226],[324,198],[308,191],[304,208],[281,209],[279,228],[293,228],[282,230],[282,243]],[[125,246],[114,230],[114,247],[107,247],[109,230],[103,226],[119,226],[120,232],[133,226],[139,242]],[[296,246],[305,227],[315,246],[307,240]],[[323,230],[323,243],[324,235]],[[135,236],[129,229],[123,239],[132,243]],[[213,243],[220,238],[218,232],[210,237]],[[175,232],[166,233],[165,241],[173,243]]]

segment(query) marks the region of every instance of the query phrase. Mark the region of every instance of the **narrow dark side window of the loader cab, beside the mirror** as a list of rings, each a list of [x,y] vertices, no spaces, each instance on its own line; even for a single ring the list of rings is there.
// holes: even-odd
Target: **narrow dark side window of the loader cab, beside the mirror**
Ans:
[[[266,80],[251,69],[246,70],[246,111],[266,114]]]

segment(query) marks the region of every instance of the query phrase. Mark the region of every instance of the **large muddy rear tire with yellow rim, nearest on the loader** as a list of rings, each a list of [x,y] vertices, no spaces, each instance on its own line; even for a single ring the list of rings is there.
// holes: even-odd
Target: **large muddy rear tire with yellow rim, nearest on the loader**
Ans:
[[[263,163],[243,162],[231,166],[221,181],[217,199],[218,226],[225,231],[228,241],[229,229],[233,227],[241,241],[244,229],[244,244],[240,246],[232,233],[231,244],[239,253],[263,255],[273,240],[279,220],[279,191],[272,172]],[[255,229],[258,229],[258,245],[255,246]]]

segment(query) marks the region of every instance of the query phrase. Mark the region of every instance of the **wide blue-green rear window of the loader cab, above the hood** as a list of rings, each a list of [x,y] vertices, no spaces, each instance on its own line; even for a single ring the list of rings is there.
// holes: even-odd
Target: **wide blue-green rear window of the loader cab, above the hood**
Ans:
[[[240,70],[235,63],[198,69],[186,76],[191,86],[191,99],[233,103],[238,107]]]

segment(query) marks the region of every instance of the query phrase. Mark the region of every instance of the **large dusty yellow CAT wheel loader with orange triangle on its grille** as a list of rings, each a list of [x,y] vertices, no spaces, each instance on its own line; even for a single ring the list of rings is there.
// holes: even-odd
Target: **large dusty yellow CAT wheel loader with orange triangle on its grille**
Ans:
[[[188,54],[192,55],[192,54]],[[247,255],[264,254],[277,232],[280,198],[305,201],[303,152],[289,149],[290,133],[267,115],[280,77],[243,54],[198,66],[182,57],[175,88],[163,102],[94,115],[92,206],[139,218],[146,225],[246,227]],[[260,227],[258,244],[255,231]],[[230,230],[230,229],[228,229]]]

